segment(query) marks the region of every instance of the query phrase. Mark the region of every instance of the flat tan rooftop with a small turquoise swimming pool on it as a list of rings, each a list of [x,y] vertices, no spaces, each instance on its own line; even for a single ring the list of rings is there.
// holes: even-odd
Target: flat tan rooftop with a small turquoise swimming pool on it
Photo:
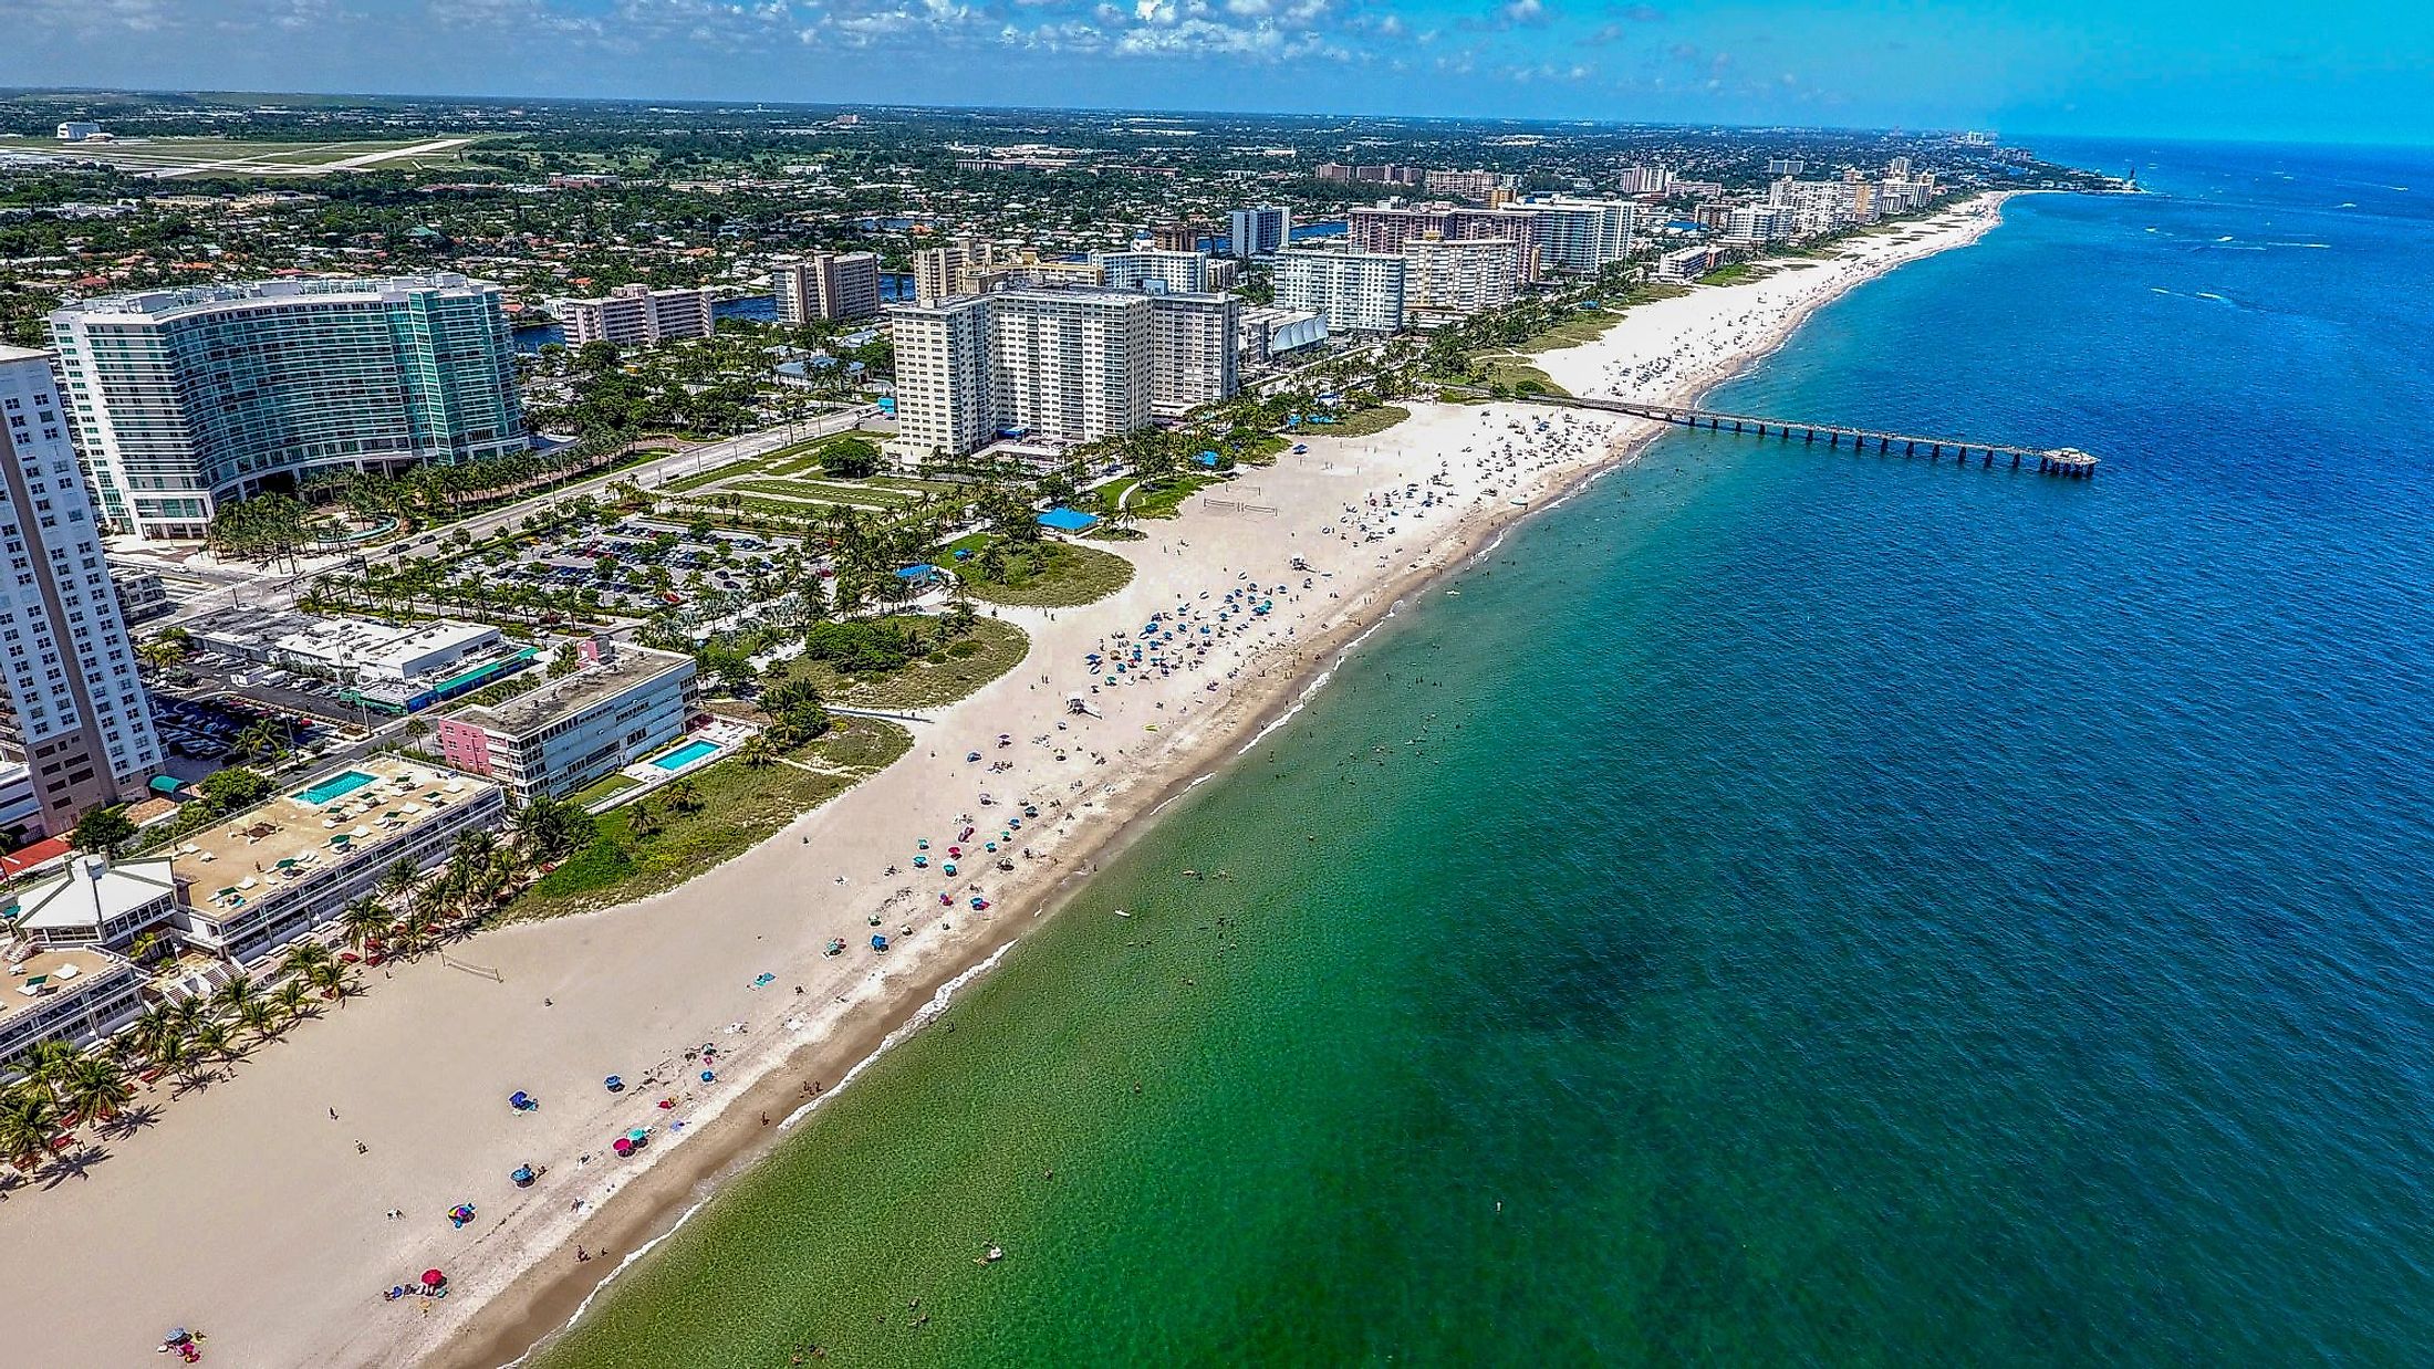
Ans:
[[[370,781],[355,783],[353,776]],[[380,861],[389,846],[438,822],[443,810],[494,788],[402,756],[365,756],[226,822],[190,832],[168,856],[175,878],[187,885],[187,907],[241,907],[217,902],[221,890],[251,902],[316,868]],[[304,795],[321,795],[321,802]]]

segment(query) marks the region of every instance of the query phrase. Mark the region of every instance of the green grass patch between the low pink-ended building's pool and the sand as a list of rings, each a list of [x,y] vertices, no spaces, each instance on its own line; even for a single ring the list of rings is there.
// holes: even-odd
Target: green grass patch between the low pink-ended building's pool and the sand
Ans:
[[[599,819],[599,836],[540,878],[506,909],[509,922],[557,917],[608,907],[672,890],[684,880],[730,861],[767,841],[796,815],[808,812],[864,776],[913,749],[913,734],[876,717],[837,717],[828,737],[803,747],[798,756],[842,773],[811,773],[796,766],[745,766],[738,759],[716,761],[686,776],[701,793],[699,812],[669,812],[662,795],[647,798],[662,829],[633,834],[633,810],[626,805]]]

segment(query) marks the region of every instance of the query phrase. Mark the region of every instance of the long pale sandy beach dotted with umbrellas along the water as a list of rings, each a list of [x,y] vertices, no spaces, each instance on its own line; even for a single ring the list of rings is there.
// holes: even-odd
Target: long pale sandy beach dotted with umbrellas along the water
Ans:
[[[1538,365],[1577,394],[1694,399],[1843,289],[1974,241],[1996,209],[1989,197],[1838,258],[1633,309]],[[1107,841],[1222,766],[1346,637],[1650,428],[1529,404],[1417,406],[1378,438],[1309,440],[1305,457],[1144,523],[1146,540],[1107,545],[1137,567],[1122,593],[1000,610],[1032,635],[1030,659],[913,725],[903,761],[769,844],[640,905],[450,948],[499,980],[438,958],[375,973],[365,995],[234,1077],[139,1099],[158,1121],[112,1143],[90,1177],[0,1206],[10,1359],[131,1364],[170,1325],[207,1333],[209,1362],[248,1367],[511,1359],[691,1206],[708,1174],[776,1136],[806,1080],[835,1085],[940,982],[1054,907]],[[1312,567],[1307,588],[1292,557]],[[1273,601],[1268,613],[1215,618],[1229,591],[1254,586],[1239,603]],[[1207,649],[1166,647],[1176,669],[1105,686],[1107,671],[1086,664],[1178,610],[1183,637]],[[1066,715],[1078,691],[1098,717]],[[1013,873],[993,856],[940,873],[961,815],[983,841],[1025,800],[1039,817],[1005,844]],[[927,871],[910,863],[920,836]],[[974,895],[991,909],[974,912]],[[884,956],[874,931],[893,941]],[[823,958],[832,936],[847,951]],[[755,987],[764,973],[774,980]],[[720,1050],[713,1085],[684,1060],[703,1043]],[[604,1075],[630,1087],[608,1094]],[[540,1111],[514,1114],[516,1089]],[[608,1155],[633,1126],[652,1128],[643,1155]],[[509,1182],[523,1162],[548,1165],[531,1189]],[[479,1216],[453,1230],[445,1211],[460,1201]],[[404,1216],[389,1221],[392,1209]],[[577,1245],[608,1257],[577,1264]],[[426,1267],[448,1272],[448,1298],[382,1301]]]

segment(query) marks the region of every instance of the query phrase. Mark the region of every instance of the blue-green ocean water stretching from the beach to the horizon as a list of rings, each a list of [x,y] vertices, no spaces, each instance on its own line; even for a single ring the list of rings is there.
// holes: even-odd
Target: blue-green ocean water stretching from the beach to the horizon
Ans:
[[[2434,1359],[2434,153],[2040,151],[548,1364]]]

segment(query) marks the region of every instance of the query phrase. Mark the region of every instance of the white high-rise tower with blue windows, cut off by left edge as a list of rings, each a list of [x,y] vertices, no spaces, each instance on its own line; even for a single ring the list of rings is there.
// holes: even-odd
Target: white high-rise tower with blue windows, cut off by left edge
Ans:
[[[102,530],[68,443],[51,353],[0,345],[0,759],[61,834],[161,773]]]

